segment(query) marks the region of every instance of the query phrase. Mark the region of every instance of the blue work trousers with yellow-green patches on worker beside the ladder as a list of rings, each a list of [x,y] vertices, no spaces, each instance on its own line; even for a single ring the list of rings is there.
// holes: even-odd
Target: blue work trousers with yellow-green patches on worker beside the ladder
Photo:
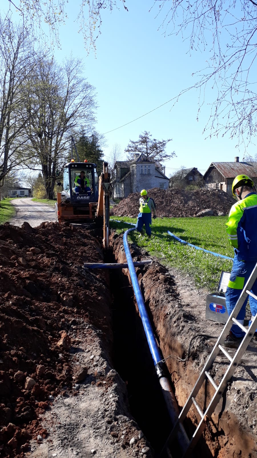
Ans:
[[[236,302],[239,299],[239,296],[242,292],[242,289],[244,285],[246,284],[246,281],[250,277],[255,265],[256,265],[256,262],[239,261],[235,253],[233,267],[230,273],[230,282],[235,283],[236,288],[231,288],[228,286],[226,290],[226,294],[225,294],[226,306],[227,306],[227,311],[229,315],[231,311],[234,309]],[[253,284],[251,292],[257,295],[257,280]],[[257,301],[252,296],[249,296],[249,302],[250,302],[250,310],[252,313],[252,317],[254,317],[257,313]],[[241,310],[236,318],[242,325],[244,324],[244,319],[246,315],[246,303],[247,303],[247,299],[245,300],[244,304],[242,305]],[[250,320],[249,326],[251,322],[252,321]],[[231,331],[236,337],[243,337],[245,335],[242,329],[239,326],[237,326],[236,324],[232,325]]]

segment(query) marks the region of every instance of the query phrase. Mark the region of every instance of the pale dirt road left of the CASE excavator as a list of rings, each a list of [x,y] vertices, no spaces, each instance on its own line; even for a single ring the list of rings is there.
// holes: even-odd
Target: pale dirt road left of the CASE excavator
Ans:
[[[16,209],[16,216],[10,223],[21,227],[27,221],[32,227],[36,227],[43,221],[55,221],[54,207],[32,201],[31,198],[14,199],[11,201]]]

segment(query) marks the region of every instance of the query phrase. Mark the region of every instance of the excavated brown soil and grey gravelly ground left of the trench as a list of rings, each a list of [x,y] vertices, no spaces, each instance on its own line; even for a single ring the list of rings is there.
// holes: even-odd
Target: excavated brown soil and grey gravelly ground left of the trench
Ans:
[[[27,452],[31,457],[56,456],[58,448],[65,456],[88,456],[93,450],[101,457],[106,451],[129,457],[138,447],[149,452],[145,457],[152,456],[142,433],[138,440],[139,428],[125,403],[125,383],[112,369],[108,276],[82,268],[84,262],[103,261],[101,242],[97,233],[69,223],[0,226],[2,457]],[[110,401],[103,401],[105,396]],[[79,398],[82,414],[74,407]],[[48,414],[45,426],[42,417]],[[54,433],[61,421],[66,426],[57,446]],[[80,429],[90,443],[80,440]],[[133,437],[137,439],[129,445]],[[45,455],[37,447],[45,447]]]

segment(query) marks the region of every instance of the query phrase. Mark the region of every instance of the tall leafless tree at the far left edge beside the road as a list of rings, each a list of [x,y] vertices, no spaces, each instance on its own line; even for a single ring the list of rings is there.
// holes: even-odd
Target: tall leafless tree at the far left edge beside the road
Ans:
[[[29,38],[10,19],[0,18],[0,185],[32,156],[26,146],[24,82],[37,62]]]

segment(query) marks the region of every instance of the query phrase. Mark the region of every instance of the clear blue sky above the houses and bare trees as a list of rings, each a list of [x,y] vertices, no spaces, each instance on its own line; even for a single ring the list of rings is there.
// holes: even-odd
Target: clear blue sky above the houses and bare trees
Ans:
[[[158,31],[161,18],[155,18],[157,8],[150,10],[153,0],[127,0],[129,11],[113,9],[102,11],[101,35],[96,40],[96,55],[87,55],[83,37],[74,22],[74,4],[68,4],[65,26],[59,31],[62,49],[55,48],[54,56],[61,61],[65,56],[83,59],[85,76],[96,87],[96,130],[105,133],[105,157],[115,143],[120,145],[121,159],[129,139],[137,140],[143,131],[150,131],[156,139],[172,138],[167,151],[177,157],[167,161],[166,174],[181,165],[198,167],[204,171],[212,161],[242,160],[244,149],[236,148],[236,140],[229,136],[205,139],[204,126],[209,118],[210,104],[215,98],[211,89],[205,93],[205,104],[198,114],[198,92],[195,89],[182,95],[177,103],[167,103],[185,88],[194,84],[193,72],[203,68],[207,55],[188,53],[188,42],[181,36],[164,37]],[[118,2],[119,3],[119,2]],[[164,104],[150,114],[120,128]],[[197,120],[198,117],[198,120]],[[108,132],[108,133],[107,133]],[[255,145],[247,152],[255,153]]]

